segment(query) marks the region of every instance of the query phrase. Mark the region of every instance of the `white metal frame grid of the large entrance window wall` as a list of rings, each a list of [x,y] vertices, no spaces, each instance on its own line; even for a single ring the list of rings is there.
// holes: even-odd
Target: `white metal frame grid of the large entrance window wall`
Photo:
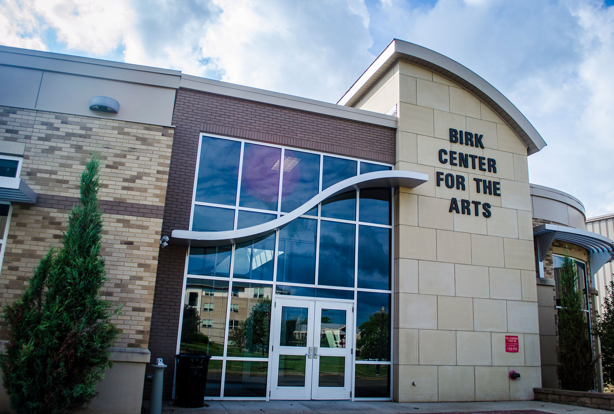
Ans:
[[[237,194],[236,194],[236,199],[235,199],[235,205],[220,205],[220,204],[214,204],[214,203],[208,203],[208,202],[197,202],[195,200],[196,198],[196,181],[198,180],[198,168],[200,166],[200,153],[201,153],[201,142],[202,142],[202,137],[203,136],[209,136],[209,137],[214,137],[214,138],[220,138],[220,139],[227,139],[227,140],[233,140],[233,141],[237,141],[237,142],[241,142],[241,155],[240,155],[240,159],[239,159],[239,171],[238,171],[238,182],[237,182]],[[244,144],[245,143],[250,143],[250,144],[258,144],[258,145],[265,145],[268,147],[275,147],[275,148],[282,148],[282,152],[281,152],[281,160],[280,160],[280,177],[279,177],[279,192],[278,192],[278,211],[274,212],[271,210],[260,210],[260,209],[251,209],[251,208],[247,208],[247,207],[239,207],[239,196],[240,196],[240,190],[241,190],[241,175],[242,175],[242,171],[243,171],[243,148],[244,148]],[[328,154],[328,153],[322,153],[319,151],[312,151],[312,150],[306,150],[304,148],[294,148],[294,147],[287,147],[287,146],[282,146],[282,145],[275,145],[275,144],[268,144],[268,143],[263,143],[263,142],[255,142],[255,141],[251,141],[251,140],[244,140],[244,139],[237,139],[237,138],[233,138],[233,137],[225,137],[225,136],[220,136],[220,135],[216,135],[216,134],[206,134],[201,132],[200,136],[199,136],[199,142],[198,142],[198,153],[197,153],[197,159],[196,159],[196,171],[195,171],[195,177],[194,177],[194,186],[193,186],[193,192],[192,192],[192,211],[190,212],[190,229],[192,228],[192,222],[193,222],[193,215],[194,215],[194,206],[195,205],[209,205],[211,207],[222,207],[225,209],[234,209],[235,210],[235,223],[233,228],[236,229],[237,226],[237,220],[238,220],[238,212],[239,210],[245,210],[245,211],[253,211],[253,212],[260,212],[260,213],[269,213],[272,215],[277,215],[277,217],[281,217],[281,215],[286,214],[286,212],[282,212],[281,211],[281,186],[282,186],[282,180],[283,180],[283,156],[284,156],[284,152],[285,149],[289,148],[292,150],[296,150],[296,151],[301,151],[301,152],[306,152],[306,153],[313,153],[316,155],[320,155],[320,173],[319,173],[319,190],[322,190],[322,166],[324,163],[324,156],[332,156],[332,157],[336,157],[336,158],[343,158],[343,159],[351,159],[352,161],[357,161],[356,163],[356,168],[357,168],[357,175],[360,175],[360,163],[361,162],[365,162],[368,164],[378,164],[381,166],[386,166],[386,167],[391,167],[391,169],[394,169],[394,165],[393,164],[387,164],[387,163],[380,163],[377,161],[369,161],[369,160],[362,160],[360,158],[352,158],[352,157],[347,157],[347,156],[340,156],[340,155],[332,155],[332,154]],[[272,353],[272,347],[273,347],[273,314],[274,314],[274,309],[271,309],[271,326],[270,326],[270,340],[269,340],[269,353],[268,353],[268,358],[246,358],[246,357],[238,357],[238,356],[226,356],[227,355],[227,350],[228,350],[228,321],[230,320],[230,307],[231,307],[231,301],[232,301],[232,285],[233,282],[243,282],[243,283],[256,283],[256,284],[260,284],[260,285],[270,285],[271,289],[272,289],[272,294],[271,294],[271,304],[275,303],[275,300],[277,297],[281,297],[281,298],[296,298],[296,299],[308,299],[308,300],[314,300],[314,301],[326,301],[326,302],[346,302],[346,303],[351,303],[355,309],[357,307],[357,299],[358,299],[358,292],[359,291],[365,291],[365,292],[373,292],[373,293],[386,293],[390,295],[390,309],[389,309],[389,315],[391,318],[390,321],[390,327],[389,327],[389,331],[390,331],[390,361],[357,361],[356,360],[356,332],[357,332],[357,313],[354,313],[354,335],[352,337],[352,348],[354,348],[354,351],[352,352],[352,372],[351,372],[351,387],[352,387],[352,396],[351,396],[351,401],[391,401],[392,400],[392,394],[393,394],[393,385],[394,385],[394,364],[392,364],[392,358],[394,356],[394,188],[391,188],[391,220],[392,223],[389,225],[386,224],[376,224],[376,223],[367,223],[367,222],[362,222],[359,221],[359,205],[360,205],[360,190],[356,190],[356,220],[351,221],[351,220],[342,220],[342,219],[336,219],[336,218],[327,218],[327,217],[321,217],[321,205],[318,204],[317,205],[317,217],[316,216],[311,216],[311,215],[301,215],[300,217],[305,217],[305,218],[311,218],[312,220],[317,220],[317,232],[316,232],[316,275],[315,275],[315,280],[314,280],[314,285],[309,285],[309,284],[305,284],[305,283],[289,283],[289,282],[278,282],[277,281],[277,257],[275,256],[275,254],[273,255],[273,280],[252,280],[252,279],[244,279],[244,278],[240,278],[240,277],[234,277],[233,273],[234,273],[234,267],[235,267],[235,244],[233,243],[232,247],[231,247],[231,260],[230,260],[230,270],[229,270],[229,277],[220,277],[220,276],[203,276],[203,275],[188,275],[187,269],[188,269],[188,258],[189,258],[189,248],[186,251],[186,256],[185,256],[185,265],[184,265],[184,281],[183,281],[183,286],[182,286],[182,294],[181,294],[181,304],[180,305],[180,312],[179,312],[179,321],[177,321],[177,342],[176,342],[176,353],[179,353],[179,348],[180,348],[180,344],[181,344],[181,321],[183,319],[183,304],[185,302],[185,291],[186,291],[186,284],[187,284],[187,278],[200,278],[200,279],[209,279],[209,280],[224,280],[228,282],[228,297],[227,297],[227,310],[226,310],[226,321],[225,321],[225,334],[224,334],[224,343],[223,343],[223,355],[222,356],[212,356],[211,359],[212,360],[222,360],[222,374],[221,374],[221,384],[220,384],[220,396],[219,397],[205,397],[208,400],[240,400],[240,401],[269,401],[270,399],[270,391],[271,391],[271,375],[273,372],[273,366],[271,364],[271,353]],[[318,270],[318,259],[319,259],[319,238],[320,238],[320,223],[322,220],[327,220],[327,221],[336,221],[339,223],[349,223],[349,224],[355,224],[355,245],[354,245],[354,286],[347,286],[347,287],[341,287],[341,286],[329,286],[329,285],[319,285],[318,284],[318,279],[317,279],[317,270]],[[391,289],[368,289],[368,288],[358,288],[357,287],[357,283],[358,283],[358,278],[357,278],[357,272],[358,272],[358,237],[359,237],[359,226],[361,225],[365,225],[365,226],[372,226],[372,227],[379,227],[379,228],[388,228],[391,230],[391,245],[390,245],[390,251],[389,251],[389,255],[390,255],[390,268],[391,268]],[[278,247],[279,246],[279,231],[275,231],[275,251],[278,251]],[[346,291],[353,291],[354,292],[354,299],[349,300],[349,299],[332,299],[332,298],[324,298],[324,297],[305,297],[305,296],[289,296],[289,295],[277,295],[276,294],[276,288],[277,285],[284,285],[284,286],[298,286],[298,287],[309,287],[309,288],[325,288],[325,289],[337,289],[337,290],[346,290]],[[266,381],[266,397],[224,397],[224,383],[225,383],[225,371],[226,371],[226,361],[266,361],[268,363],[268,371],[267,371],[267,381]],[[379,365],[387,365],[390,366],[390,383],[391,383],[391,394],[389,397],[379,397],[379,398],[356,398],[355,397],[355,390],[354,390],[354,381],[355,381],[355,375],[356,375],[356,364],[369,364],[369,365],[375,365],[375,362],[377,362]],[[173,385],[173,396],[174,396],[174,385]]]

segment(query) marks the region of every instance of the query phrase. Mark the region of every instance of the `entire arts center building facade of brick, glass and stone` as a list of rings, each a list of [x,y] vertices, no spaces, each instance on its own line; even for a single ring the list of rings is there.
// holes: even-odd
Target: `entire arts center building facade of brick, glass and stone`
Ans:
[[[487,401],[558,386],[558,255],[573,252],[593,315],[591,269],[612,240],[585,230],[572,196],[529,184],[545,142],[466,67],[394,40],[328,104],[0,53],[0,165],[28,186],[0,190],[1,300],[58,242],[99,151],[104,294],[124,305],[115,354],[143,390],[135,407],[156,358],[173,397],[182,352],[212,356],[209,399]],[[90,109],[98,95],[117,113]],[[116,372],[101,387],[122,388]]]

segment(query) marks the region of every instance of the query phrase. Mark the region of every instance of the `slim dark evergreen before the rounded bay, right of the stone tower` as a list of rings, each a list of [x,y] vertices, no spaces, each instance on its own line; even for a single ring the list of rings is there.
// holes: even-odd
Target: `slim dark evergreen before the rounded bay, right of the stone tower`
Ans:
[[[561,267],[560,288],[556,375],[562,389],[589,391],[594,388],[595,361],[589,337],[588,313],[583,311],[575,263],[566,252]]]

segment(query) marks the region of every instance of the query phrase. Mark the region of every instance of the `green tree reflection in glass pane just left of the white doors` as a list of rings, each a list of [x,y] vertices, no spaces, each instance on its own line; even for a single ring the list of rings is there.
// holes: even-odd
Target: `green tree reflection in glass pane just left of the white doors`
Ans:
[[[271,299],[261,297],[252,307],[247,320],[239,321],[235,329],[228,332],[239,353],[268,353],[269,330],[271,325]],[[230,354],[229,354],[230,355]]]

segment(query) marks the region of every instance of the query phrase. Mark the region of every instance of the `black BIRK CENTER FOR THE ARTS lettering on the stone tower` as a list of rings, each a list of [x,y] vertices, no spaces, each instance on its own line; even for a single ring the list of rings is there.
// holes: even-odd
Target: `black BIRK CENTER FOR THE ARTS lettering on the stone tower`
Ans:
[[[484,148],[482,143],[483,135],[476,134],[468,131],[461,131],[459,129],[450,128],[450,142],[457,145],[463,145],[464,147]],[[475,155],[468,152],[460,151],[463,147],[452,148],[459,151],[445,150],[441,148],[439,150],[439,162],[441,164],[449,164],[454,167],[464,167],[467,169],[492,172],[497,174],[497,161],[494,158],[486,158],[481,155]],[[470,150],[470,148],[464,151]],[[501,196],[501,183],[494,180],[486,180],[486,178],[473,178],[472,183],[465,182],[465,176],[462,174],[451,174],[450,172],[436,171],[435,183],[438,187],[445,185],[447,188],[456,188],[456,190],[465,191],[468,185],[475,185],[475,191],[478,194],[488,194],[489,196]],[[481,202],[477,200],[456,199],[452,197],[450,200],[449,212],[455,212],[458,214],[476,215],[480,216],[480,212],[483,217],[491,217],[491,205],[488,202]]]

